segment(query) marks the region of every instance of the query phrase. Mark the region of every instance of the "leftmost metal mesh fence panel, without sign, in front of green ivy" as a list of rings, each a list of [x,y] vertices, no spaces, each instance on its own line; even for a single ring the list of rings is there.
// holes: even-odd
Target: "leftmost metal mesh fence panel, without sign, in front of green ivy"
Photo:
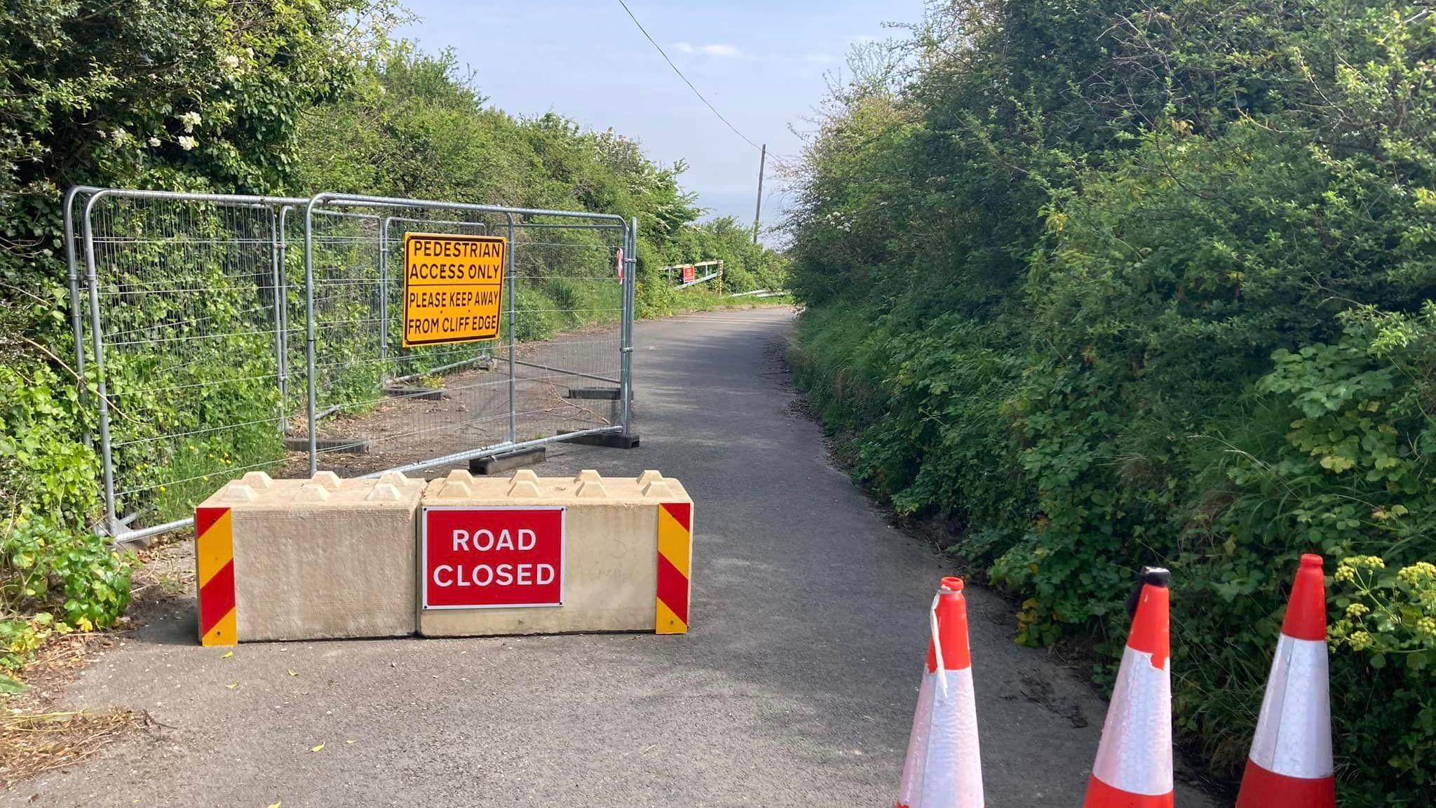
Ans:
[[[82,254],[106,528],[182,523],[197,499],[283,459],[276,207],[99,190]],[[76,346],[83,355],[86,345]]]

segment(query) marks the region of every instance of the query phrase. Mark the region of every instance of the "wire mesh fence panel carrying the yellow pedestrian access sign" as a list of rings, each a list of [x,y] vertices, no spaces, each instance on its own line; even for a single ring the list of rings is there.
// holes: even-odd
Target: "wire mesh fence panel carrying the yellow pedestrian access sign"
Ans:
[[[349,219],[325,221],[320,203]],[[620,219],[335,194],[320,194],[310,208],[316,424],[306,434],[313,469],[415,470],[625,428],[628,283],[619,280],[615,256],[629,236]],[[359,277],[356,262],[336,244],[366,242],[369,229],[358,221],[370,217],[379,221],[379,260]],[[402,345],[405,233],[508,239],[498,339]],[[363,328],[372,328],[373,341]]]

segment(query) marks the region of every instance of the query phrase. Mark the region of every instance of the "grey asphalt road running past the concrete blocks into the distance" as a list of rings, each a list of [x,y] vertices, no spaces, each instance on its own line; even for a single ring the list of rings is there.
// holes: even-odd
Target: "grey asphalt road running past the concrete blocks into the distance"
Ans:
[[[778,362],[790,323],[777,309],[639,323],[642,447],[564,447],[538,469],[682,479],[696,500],[688,635],[276,643],[223,658],[195,644],[181,598],[63,697],[165,726],[0,799],[892,805],[946,565],[826,462]],[[1104,704],[1011,643],[1010,604],[969,589],[969,608],[988,805],[1080,804]],[[1178,802],[1213,805],[1180,785]]]

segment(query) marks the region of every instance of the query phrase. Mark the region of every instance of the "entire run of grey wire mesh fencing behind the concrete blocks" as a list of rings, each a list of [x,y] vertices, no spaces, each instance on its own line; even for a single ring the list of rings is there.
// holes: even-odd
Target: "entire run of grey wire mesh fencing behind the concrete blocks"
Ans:
[[[185,525],[250,470],[372,476],[629,430],[636,231],[616,216],[79,188],[66,221],[111,535]],[[495,339],[404,344],[408,233],[507,239]]]

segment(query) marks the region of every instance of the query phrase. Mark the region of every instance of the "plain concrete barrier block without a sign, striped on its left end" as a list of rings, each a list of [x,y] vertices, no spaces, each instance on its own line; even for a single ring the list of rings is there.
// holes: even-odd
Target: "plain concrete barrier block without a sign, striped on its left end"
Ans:
[[[424,480],[241,480],[195,509],[200,635],[210,644],[415,630]]]

